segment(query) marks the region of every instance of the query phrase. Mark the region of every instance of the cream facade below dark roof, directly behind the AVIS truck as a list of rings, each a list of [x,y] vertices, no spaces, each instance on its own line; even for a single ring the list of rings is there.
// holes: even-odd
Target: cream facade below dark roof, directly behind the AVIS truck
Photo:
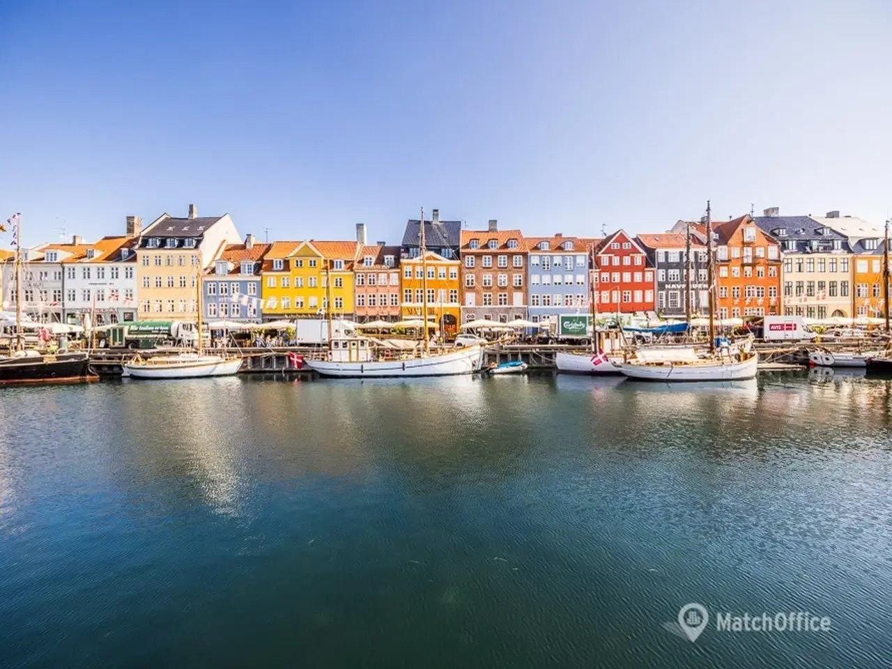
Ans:
[[[783,253],[783,312],[806,318],[850,318],[853,264],[848,252]]]

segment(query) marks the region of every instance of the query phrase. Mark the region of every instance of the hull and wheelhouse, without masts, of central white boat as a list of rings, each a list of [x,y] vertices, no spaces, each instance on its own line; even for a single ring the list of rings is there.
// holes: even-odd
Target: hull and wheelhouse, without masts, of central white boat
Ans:
[[[407,376],[452,376],[480,371],[483,347],[467,346],[446,353],[416,356],[397,353],[392,359],[376,351],[376,342],[364,337],[345,337],[330,342],[326,360],[305,360],[320,376],[341,378],[399,378]]]

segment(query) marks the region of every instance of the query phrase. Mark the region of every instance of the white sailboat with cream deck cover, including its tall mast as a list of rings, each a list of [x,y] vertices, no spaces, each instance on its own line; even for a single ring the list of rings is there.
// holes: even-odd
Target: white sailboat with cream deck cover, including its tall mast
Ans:
[[[642,381],[743,381],[756,376],[759,355],[752,350],[754,338],[743,343],[715,345],[715,268],[712,210],[706,202],[706,253],[709,258],[709,348],[690,345],[641,347],[632,359],[617,365],[625,376]],[[689,268],[690,269],[690,268]],[[689,293],[690,294],[690,293]]]

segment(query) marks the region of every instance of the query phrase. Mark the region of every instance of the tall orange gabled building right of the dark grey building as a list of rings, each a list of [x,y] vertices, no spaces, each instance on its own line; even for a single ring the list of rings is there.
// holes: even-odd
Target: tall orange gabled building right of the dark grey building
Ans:
[[[704,226],[699,226],[703,229]],[[748,214],[713,222],[716,316],[772,316],[780,309],[780,244]]]

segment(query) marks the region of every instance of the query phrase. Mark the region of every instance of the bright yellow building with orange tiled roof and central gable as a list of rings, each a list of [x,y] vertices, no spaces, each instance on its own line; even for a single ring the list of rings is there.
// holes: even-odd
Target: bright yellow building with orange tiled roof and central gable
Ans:
[[[353,318],[353,263],[357,242],[276,242],[263,261],[263,320],[322,318],[332,299],[332,315]],[[329,289],[327,282],[331,280]]]

